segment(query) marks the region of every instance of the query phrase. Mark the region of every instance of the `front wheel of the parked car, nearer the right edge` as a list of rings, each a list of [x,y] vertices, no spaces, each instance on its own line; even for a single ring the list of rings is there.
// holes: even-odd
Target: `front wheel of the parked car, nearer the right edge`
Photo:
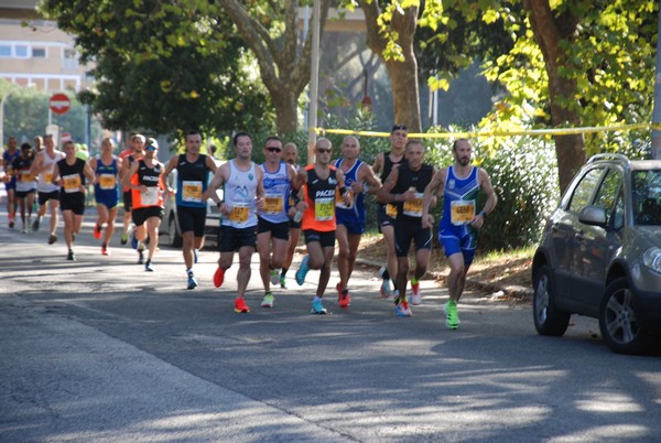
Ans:
[[[610,349],[620,354],[644,354],[649,334],[636,321],[631,290],[626,277],[614,280],[599,306],[599,329]]]

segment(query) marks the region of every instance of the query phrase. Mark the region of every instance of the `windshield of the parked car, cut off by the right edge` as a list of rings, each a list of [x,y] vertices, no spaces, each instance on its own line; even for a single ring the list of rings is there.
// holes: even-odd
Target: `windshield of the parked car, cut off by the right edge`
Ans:
[[[632,182],[636,224],[661,226],[661,171],[635,171]]]

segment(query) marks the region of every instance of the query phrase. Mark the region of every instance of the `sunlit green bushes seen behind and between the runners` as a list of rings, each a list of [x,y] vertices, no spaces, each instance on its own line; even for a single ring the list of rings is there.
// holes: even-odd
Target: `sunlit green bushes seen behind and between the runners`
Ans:
[[[332,117],[328,119],[330,121]],[[373,118],[369,114],[359,112],[350,121],[330,121],[330,127],[376,130]],[[263,162],[261,148],[270,134],[266,132],[252,134],[252,158],[257,163]],[[284,143],[293,141],[299,147],[300,164],[305,164],[307,133],[299,131],[283,134],[281,138]],[[337,159],[342,155],[339,148],[344,136],[328,134],[326,138],[333,143],[333,158]],[[387,138],[359,137],[358,140],[361,148],[360,159],[370,165],[373,164],[379,152],[390,150],[390,141]],[[480,230],[478,242],[480,250],[508,250],[534,245],[539,240],[546,218],[555,209],[560,199],[553,142],[540,138],[512,137],[487,142],[472,140],[472,143],[475,150],[475,164],[480,165],[489,173],[491,184],[498,195],[498,205]],[[437,169],[453,164],[451,140],[425,140],[425,145],[427,147],[426,163]],[[227,145],[226,155],[228,159],[235,156],[231,143]],[[484,193],[480,194],[480,198],[478,207],[484,205]],[[368,195],[365,202],[367,229],[376,230],[378,223],[375,198]],[[433,209],[436,220],[441,218],[442,208],[442,201],[438,201]],[[436,228],[437,226],[434,227],[434,229]]]

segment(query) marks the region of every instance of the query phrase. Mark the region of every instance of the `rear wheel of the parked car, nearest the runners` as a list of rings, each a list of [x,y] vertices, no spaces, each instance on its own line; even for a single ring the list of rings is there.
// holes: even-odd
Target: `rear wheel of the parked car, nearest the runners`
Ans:
[[[534,327],[540,335],[560,337],[567,331],[571,315],[555,307],[553,280],[546,264],[542,264],[535,272],[533,285],[532,315],[534,317]]]

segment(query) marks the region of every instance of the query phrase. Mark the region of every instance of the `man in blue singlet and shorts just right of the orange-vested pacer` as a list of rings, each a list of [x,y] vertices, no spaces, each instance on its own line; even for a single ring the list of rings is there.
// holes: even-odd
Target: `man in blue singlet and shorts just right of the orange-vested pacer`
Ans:
[[[356,263],[360,235],[365,233],[365,220],[367,218],[365,193],[376,194],[381,188],[381,181],[367,163],[358,159],[359,153],[360,143],[358,139],[348,136],[342,143],[342,159],[334,162],[335,168],[344,173],[345,186],[354,196],[353,204],[349,206],[346,206],[339,198],[336,198],[335,204],[337,223],[335,237],[339,246],[337,256],[339,283],[337,283],[336,289],[340,307],[348,307],[351,300],[348,284]],[[366,186],[366,183],[369,187]]]

